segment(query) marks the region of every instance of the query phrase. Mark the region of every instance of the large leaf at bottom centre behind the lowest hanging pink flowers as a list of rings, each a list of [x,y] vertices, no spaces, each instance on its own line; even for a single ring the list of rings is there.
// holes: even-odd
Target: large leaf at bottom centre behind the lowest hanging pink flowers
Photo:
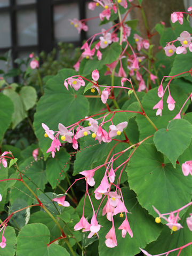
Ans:
[[[99,224],[103,227],[99,231],[99,255],[126,255],[134,256],[139,253],[139,247],[146,246],[148,243],[155,241],[159,234],[161,233],[161,225],[157,225],[154,219],[143,209],[137,201],[136,195],[132,190],[128,188],[122,189],[123,198],[127,210],[132,214],[128,214],[128,220],[130,227],[133,231],[133,238],[126,234],[125,238],[122,238],[122,230],[118,230],[118,227],[124,221],[124,218],[120,218],[117,215],[114,218],[116,237],[117,237],[117,247],[108,248],[105,245],[105,236],[112,226],[105,217],[99,219]]]

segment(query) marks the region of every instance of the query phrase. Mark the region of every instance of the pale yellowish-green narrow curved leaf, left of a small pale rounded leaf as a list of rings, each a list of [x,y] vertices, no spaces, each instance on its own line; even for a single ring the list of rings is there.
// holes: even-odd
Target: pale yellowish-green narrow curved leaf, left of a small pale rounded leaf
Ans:
[[[13,91],[12,89],[5,89],[3,90],[3,93],[9,97],[13,104],[14,104],[14,113],[12,115],[12,128],[14,129],[14,127],[19,124],[24,118],[27,117],[25,108],[23,106],[21,97],[19,96],[19,94],[15,91]]]

